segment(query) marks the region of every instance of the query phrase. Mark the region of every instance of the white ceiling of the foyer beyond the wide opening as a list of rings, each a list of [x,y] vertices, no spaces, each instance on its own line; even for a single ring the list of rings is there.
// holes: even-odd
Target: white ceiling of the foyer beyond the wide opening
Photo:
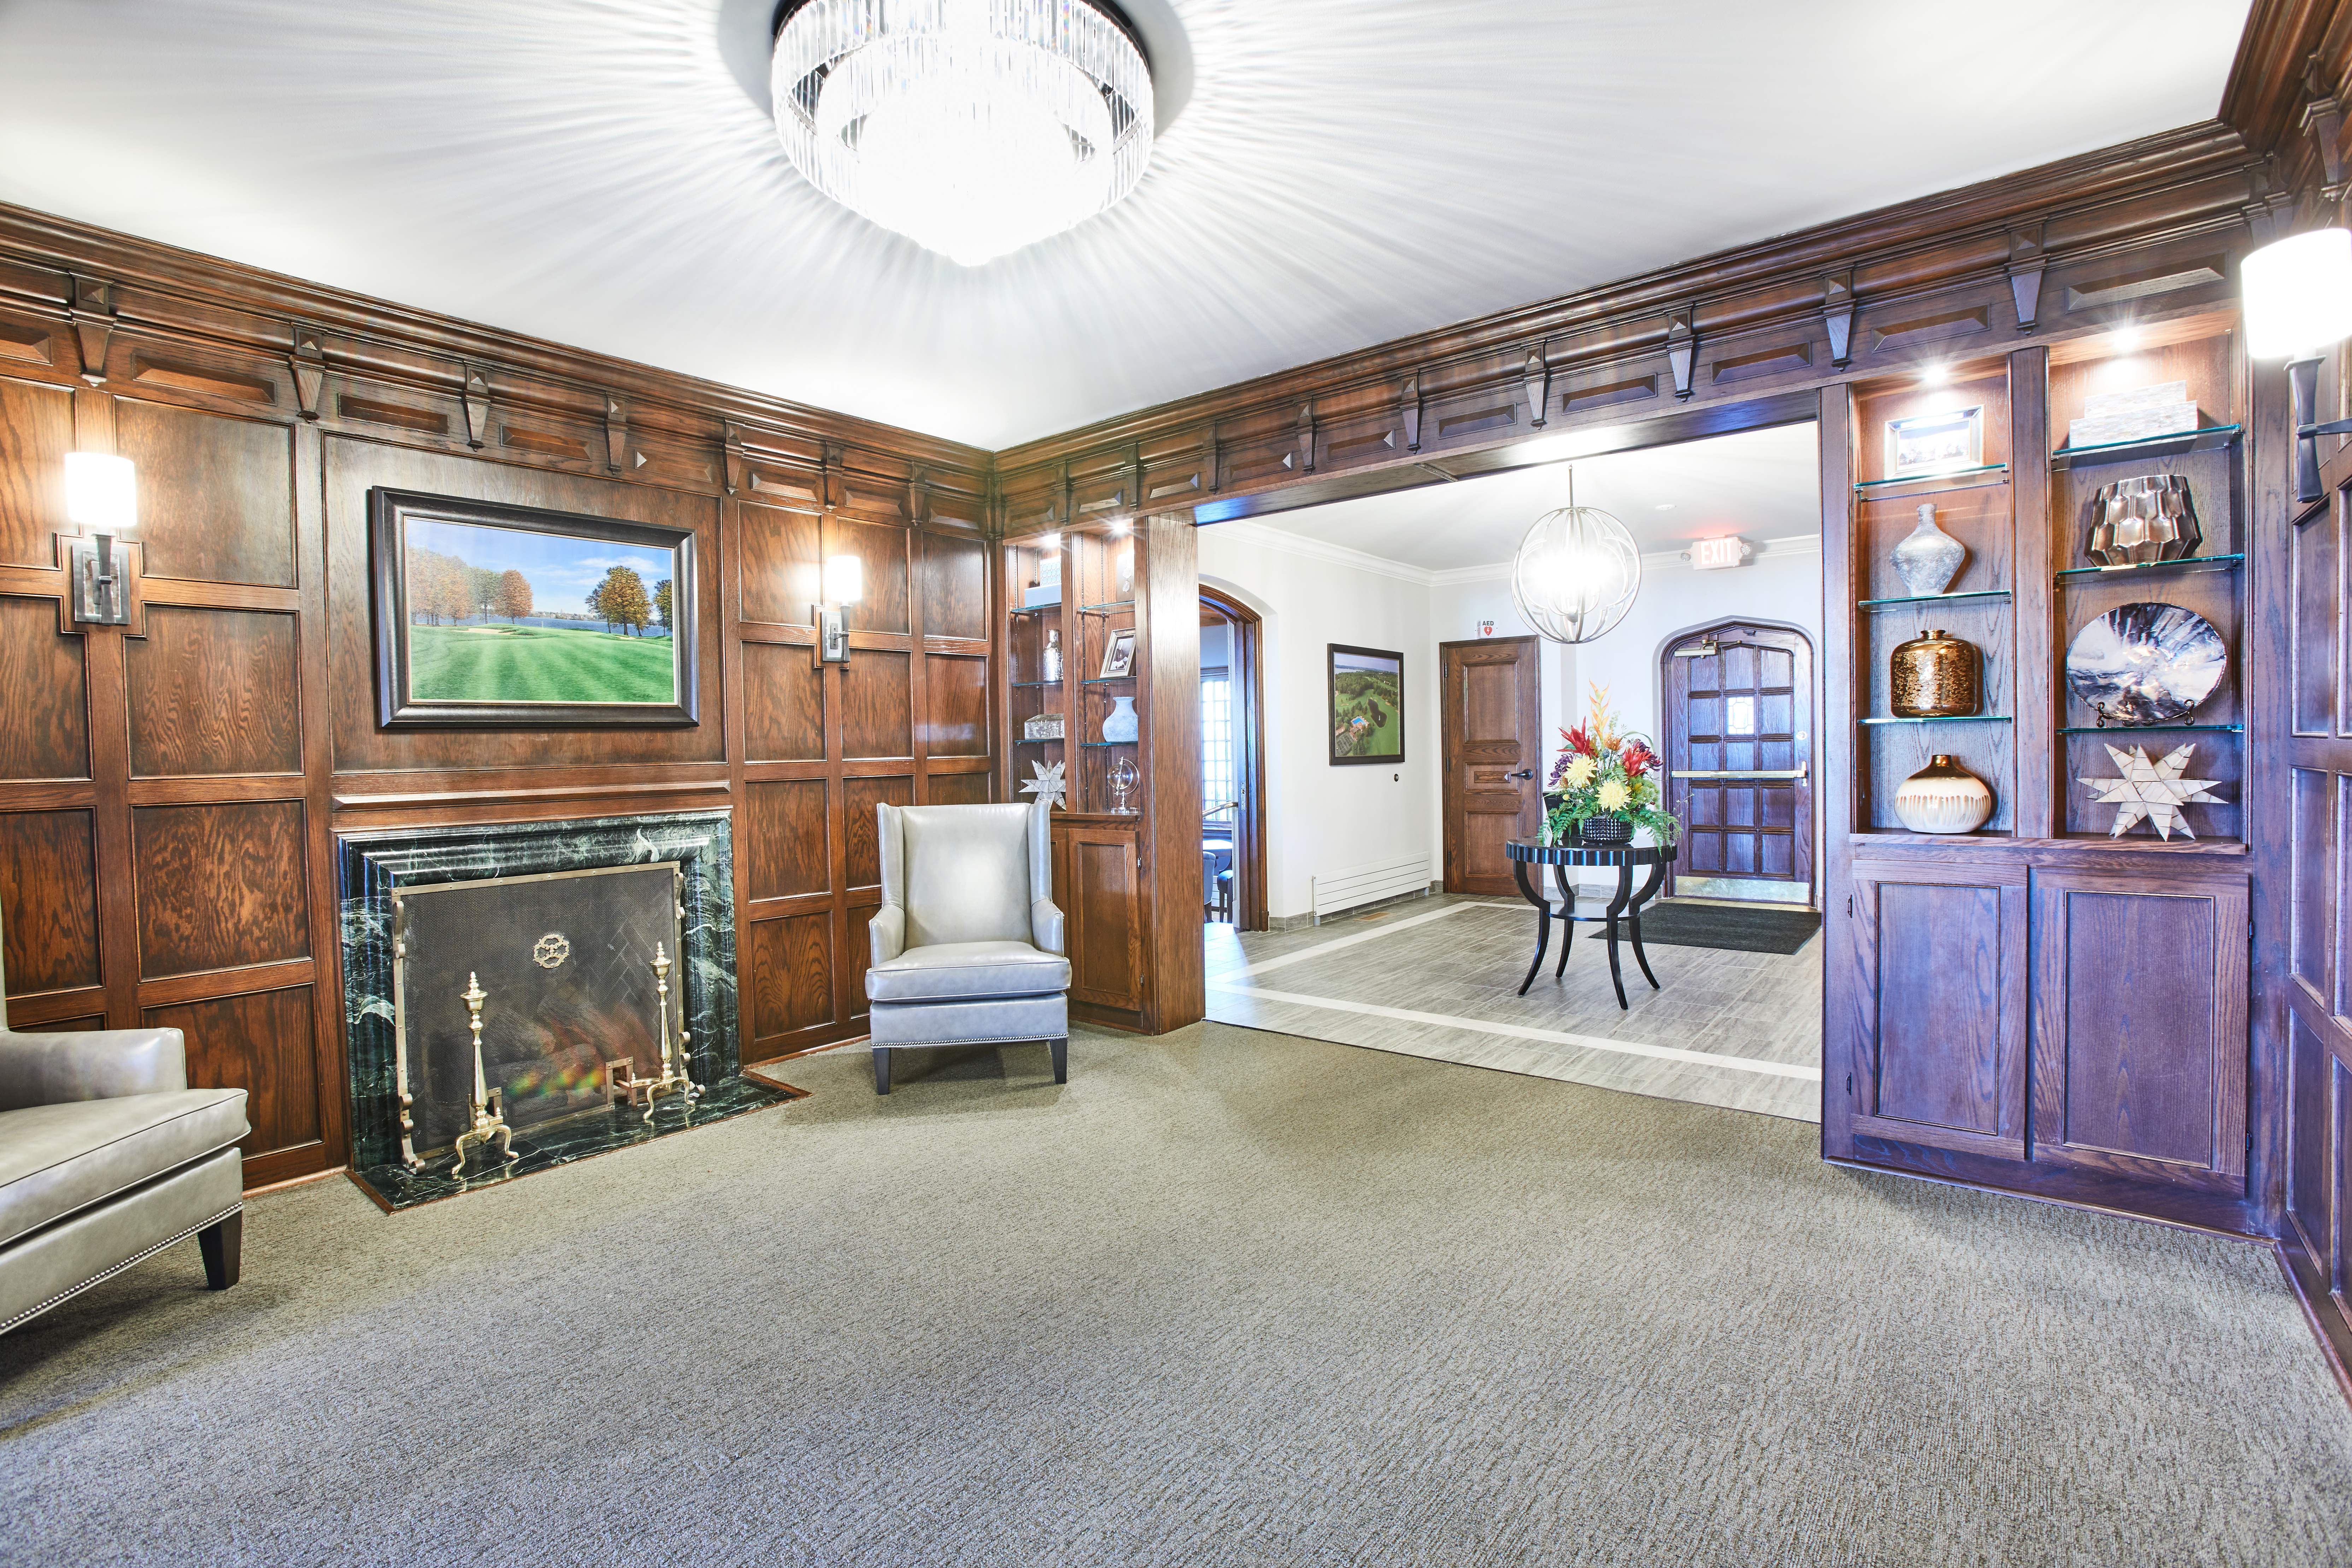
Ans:
[[[1529,524],[1569,503],[1597,505],[1635,536],[1644,555],[1682,550],[1693,538],[1738,534],[1748,543],[1820,534],[1818,425],[1773,425],[1679,447],[1613,451],[1576,463],[1425,484],[1249,520],[1319,545],[1402,562],[1421,571],[1465,571],[1508,562]],[[1211,524],[1232,527],[1232,524]]]

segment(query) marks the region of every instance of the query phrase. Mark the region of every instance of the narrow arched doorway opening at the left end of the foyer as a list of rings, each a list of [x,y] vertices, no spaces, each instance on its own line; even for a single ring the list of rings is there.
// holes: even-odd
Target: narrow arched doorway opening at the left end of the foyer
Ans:
[[[1265,931],[1265,722],[1258,611],[1200,590],[1202,919]]]

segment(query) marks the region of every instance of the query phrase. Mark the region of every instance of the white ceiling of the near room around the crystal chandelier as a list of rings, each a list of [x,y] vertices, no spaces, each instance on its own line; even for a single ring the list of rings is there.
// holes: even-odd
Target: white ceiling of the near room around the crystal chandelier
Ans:
[[[1131,200],[816,195],[743,0],[0,0],[0,200],[981,447],[2216,113],[2246,0],[1150,0]]]

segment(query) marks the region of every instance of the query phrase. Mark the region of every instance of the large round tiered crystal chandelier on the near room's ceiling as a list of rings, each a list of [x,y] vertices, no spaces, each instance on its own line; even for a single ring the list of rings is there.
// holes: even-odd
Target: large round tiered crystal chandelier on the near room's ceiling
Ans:
[[[981,266],[1112,207],[1152,155],[1152,75],[1108,0],[802,0],[776,129],[818,190]]]

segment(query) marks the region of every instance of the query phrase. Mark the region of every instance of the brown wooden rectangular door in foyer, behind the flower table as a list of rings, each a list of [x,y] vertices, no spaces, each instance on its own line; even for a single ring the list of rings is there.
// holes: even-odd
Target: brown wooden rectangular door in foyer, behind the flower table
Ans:
[[[1543,686],[1534,637],[1437,644],[1446,891],[1515,893],[1505,839],[1543,816]]]

